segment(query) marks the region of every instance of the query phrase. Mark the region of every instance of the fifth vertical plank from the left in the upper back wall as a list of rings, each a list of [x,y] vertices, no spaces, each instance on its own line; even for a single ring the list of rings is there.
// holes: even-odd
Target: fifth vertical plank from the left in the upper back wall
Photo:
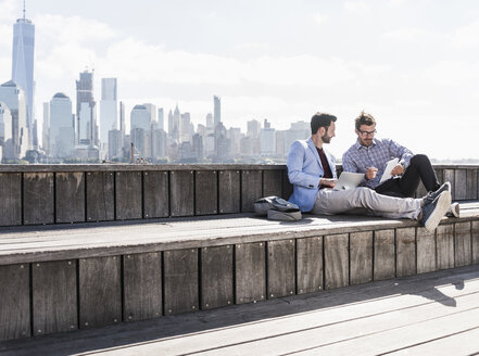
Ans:
[[[141,173],[117,171],[115,174],[116,219],[141,219]]]

